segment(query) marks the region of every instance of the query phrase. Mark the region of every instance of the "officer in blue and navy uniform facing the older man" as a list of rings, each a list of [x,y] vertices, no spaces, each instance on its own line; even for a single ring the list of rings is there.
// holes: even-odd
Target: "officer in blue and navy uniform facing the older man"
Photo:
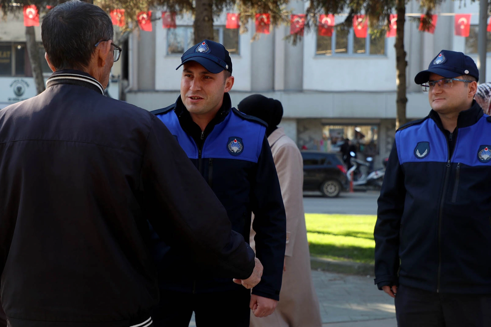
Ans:
[[[273,313],[285,253],[285,210],[265,135],[267,126],[231,107],[232,61],[221,44],[203,40],[187,50],[181,62],[180,97],[153,113],[213,189],[232,229],[246,240],[254,213],[256,255],[264,272],[251,295],[240,280],[234,283],[198,271],[183,249],[157,242],[154,252],[159,265],[174,270],[159,272],[161,301],[152,317],[157,326],[187,327],[194,311],[198,327],[248,327],[251,309],[257,317]]]

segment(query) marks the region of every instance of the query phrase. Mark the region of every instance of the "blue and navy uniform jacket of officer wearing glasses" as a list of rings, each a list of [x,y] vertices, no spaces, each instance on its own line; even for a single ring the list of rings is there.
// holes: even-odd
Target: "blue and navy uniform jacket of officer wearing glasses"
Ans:
[[[491,293],[491,118],[473,102],[401,127],[378,200],[375,283]]]

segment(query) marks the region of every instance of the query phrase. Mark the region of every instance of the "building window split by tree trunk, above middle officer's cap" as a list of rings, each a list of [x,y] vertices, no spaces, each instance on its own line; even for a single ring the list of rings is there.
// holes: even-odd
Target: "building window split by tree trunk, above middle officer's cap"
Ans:
[[[230,54],[239,54],[239,29],[215,26],[213,38],[223,44]],[[167,29],[167,54],[180,54],[194,45],[192,26],[178,26]]]

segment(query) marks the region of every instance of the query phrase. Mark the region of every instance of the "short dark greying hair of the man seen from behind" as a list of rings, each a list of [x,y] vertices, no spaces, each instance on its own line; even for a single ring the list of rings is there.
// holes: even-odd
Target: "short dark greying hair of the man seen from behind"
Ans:
[[[51,9],[43,19],[41,38],[56,70],[88,66],[95,44],[114,35],[108,14],[96,5],[70,0]]]

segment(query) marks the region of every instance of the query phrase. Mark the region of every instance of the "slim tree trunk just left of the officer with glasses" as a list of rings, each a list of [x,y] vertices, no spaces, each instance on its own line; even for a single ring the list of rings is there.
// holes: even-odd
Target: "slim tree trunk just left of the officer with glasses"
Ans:
[[[396,0],[397,29],[396,29],[396,129],[406,124],[406,51],[404,50],[404,22],[406,21],[406,3],[404,0]]]

